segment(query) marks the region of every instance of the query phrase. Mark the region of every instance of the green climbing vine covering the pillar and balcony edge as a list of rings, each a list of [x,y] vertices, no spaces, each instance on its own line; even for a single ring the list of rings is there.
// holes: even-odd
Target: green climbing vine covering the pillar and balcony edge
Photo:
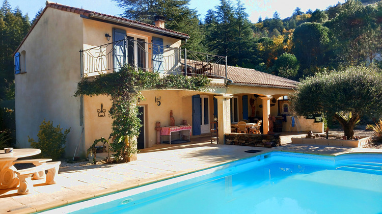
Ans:
[[[83,78],[77,84],[74,96],[107,95],[112,100],[109,111],[113,118],[111,149],[116,161],[127,162],[128,157],[137,153],[137,136],[141,121],[137,117],[138,100],[144,99],[143,90],[184,89],[203,91],[210,80],[203,75],[187,77],[183,75],[159,76],[157,72],[144,72],[126,65],[119,72],[100,74],[93,81]]]

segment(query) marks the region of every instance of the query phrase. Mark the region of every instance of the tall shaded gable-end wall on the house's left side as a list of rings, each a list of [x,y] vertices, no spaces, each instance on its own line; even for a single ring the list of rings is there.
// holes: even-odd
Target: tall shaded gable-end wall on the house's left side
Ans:
[[[71,127],[66,156],[74,154],[81,135],[78,51],[83,44],[83,22],[78,14],[47,8],[19,52],[25,51],[26,73],[15,75],[16,139],[28,148],[44,120]]]

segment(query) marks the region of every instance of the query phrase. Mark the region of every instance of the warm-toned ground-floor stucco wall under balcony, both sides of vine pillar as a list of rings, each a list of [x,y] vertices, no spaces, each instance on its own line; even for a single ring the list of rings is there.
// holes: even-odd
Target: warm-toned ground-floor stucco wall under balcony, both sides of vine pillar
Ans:
[[[152,147],[156,143],[155,123],[160,122],[161,126],[170,125],[170,111],[173,110],[175,125],[182,124],[182,120],[187,120],[187,124],[192,123],[192,96],[196,94],[207,95],[209,97],[209,121],[213,120],[213,95],[196,91],[183,90],[150,90],[143,91],[146,100],[139,102],[145,106],[145,147]],[[161,97],[161,104],[158,106],[155,97]],[[98,117],[97,109],[101,103],[106,109],[106,117]],[[85,112],[85,147],[93,144],[95,139],[107,138],[112,129],[112,118],[108,114],[112,105],[111,100],[106,96],[84,96]],[[175,136],[174,139],[177,139]],[[166,140],[166,137],[165,139]]]

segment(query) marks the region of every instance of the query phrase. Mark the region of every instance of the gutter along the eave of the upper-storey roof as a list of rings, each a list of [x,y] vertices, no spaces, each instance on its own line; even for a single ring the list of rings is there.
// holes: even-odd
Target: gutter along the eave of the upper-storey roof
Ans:
[[[106,21],[111,21],[111,22],[115,22],[115,23],[121,23],[124,25],[132,26],[134,28],[144,29],[147,31],[155,32],[155,33],[160,33],[160,34],[165,34],[165,35],[169,35],[169,36],[173,36],[173,37],[178,37],[178,38],[181,38],[184,40],[187,40],[189,38],[189,36],[184,36],[184,35],[172,33],[169,31],[152,28],[150,26],[145,26],[142,24],[137,24],[137,23],[133,23],[133,22],[125,21],[125,20],[120,20],[120,19],[116,19],[116,18],[111,18],[111,17],[107,17],[107,16],[102,16],[102,15],[98,15],[98,14],[92,13],[92,14],[89,14],[89,17],[96,18],[96,19],[102,19],[102,20],[106,20]]]

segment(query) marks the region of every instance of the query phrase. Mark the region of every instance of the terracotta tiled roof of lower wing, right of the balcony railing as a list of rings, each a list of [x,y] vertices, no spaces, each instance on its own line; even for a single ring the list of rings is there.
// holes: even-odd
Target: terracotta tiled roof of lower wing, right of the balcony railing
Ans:
[[[234,84],[249,84],[259,86],[297,88],[298,82],[281,76],[264,73],[250,68],[234,66],[227,67],[227,78]]]

